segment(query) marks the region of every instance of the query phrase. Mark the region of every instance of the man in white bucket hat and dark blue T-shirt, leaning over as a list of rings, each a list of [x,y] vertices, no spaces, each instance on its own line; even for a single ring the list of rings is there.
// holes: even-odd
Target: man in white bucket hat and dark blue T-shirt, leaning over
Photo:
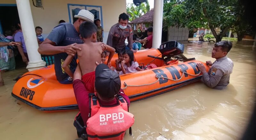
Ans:
[[[84,21],[93,22],[94,15],[88,10],[80,10],[74,16],[73,24],[61,23],[52,29],[52,32],[39,46],[38,52],[45,55],[54,55],[54,69],[57,80],[62,84],[70,84],[73,82],[72,77],[62,69],[63,61],[68,55],[75,56],[77,48],[76,44],[82,44],[80,39],[79,25]],[[76,58],[70,63],[70,70],[74,73],[76,69]]]

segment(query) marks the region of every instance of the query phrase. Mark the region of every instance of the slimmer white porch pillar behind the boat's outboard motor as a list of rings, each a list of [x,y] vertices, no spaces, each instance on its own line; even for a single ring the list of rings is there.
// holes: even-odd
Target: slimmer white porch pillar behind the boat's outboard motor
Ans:
[[[162,39],[164,0],[154,0],[153,48],[159,48]]]

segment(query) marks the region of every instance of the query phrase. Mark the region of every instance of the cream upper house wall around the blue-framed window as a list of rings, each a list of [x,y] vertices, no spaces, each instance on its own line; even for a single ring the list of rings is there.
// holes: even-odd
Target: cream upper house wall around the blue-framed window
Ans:
[[[42,0],[43,8],[37,8],[29,0],[35,26],[43,28],[43,36],[52,31],[61,19],[69,22],[68,3],[102,6],[104,42],[112,25],[118,22],[121,13],[126,12],[126,0]],[[36,2],[34,0],[34,2]],[[16,4],[15,0],[1,0],[0,4]]]

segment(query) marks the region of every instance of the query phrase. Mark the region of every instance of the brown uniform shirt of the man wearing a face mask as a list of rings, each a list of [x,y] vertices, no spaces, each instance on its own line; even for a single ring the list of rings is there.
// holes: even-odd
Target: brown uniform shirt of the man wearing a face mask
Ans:
[[[127,28],[121,29],[119,23],[113,25],[108,33],[107,45],[116,49],[116,52],[125,49],[125,39],[128,40],[128,47],[132,49],[132,26],[127,25]]]

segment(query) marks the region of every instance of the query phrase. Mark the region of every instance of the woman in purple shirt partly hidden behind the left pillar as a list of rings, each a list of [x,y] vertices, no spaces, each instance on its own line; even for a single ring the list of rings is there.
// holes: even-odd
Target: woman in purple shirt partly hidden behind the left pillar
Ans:
[[[21,44],[20,46],[18,46],[18,50],[20,52],[23,62],[25,62],[26,65],[28,65],[28,61],[29,61],[28,53],[27,53],[27,49],[26,49],[20,22],[18,23],[18,26],[20,27],[20,30],[14,34],[14,41]]]

